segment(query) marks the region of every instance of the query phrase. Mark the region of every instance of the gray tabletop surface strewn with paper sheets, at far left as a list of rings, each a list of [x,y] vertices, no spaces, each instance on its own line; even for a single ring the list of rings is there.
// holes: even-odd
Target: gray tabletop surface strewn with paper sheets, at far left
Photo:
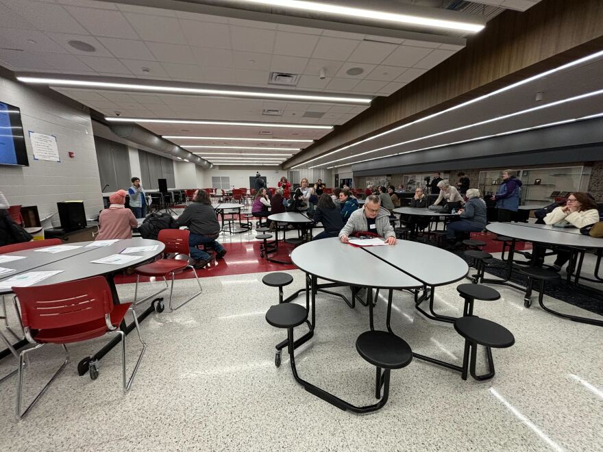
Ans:
[[[78,245],[86,245],[90,242],[78,242],[73,244]],[[140,256],[139,259],[134,260],[132,262],[128,262],[127,264],[93,264],[92,260],[97,260],[101,258],[105,258],[106,256],[112,254],[119,254],[123,249],[127,247],[145,247],[149,245],[158,244],[159,247],[156,251],[147,251],[144,253],[132,253],[132,255]],[[12,253],[15,255],[26,255],[26,259],[17,260],[14,262],[6,262],[1,266],[5,268],[16,268],[16,264],[19,262],[26,262],[29,264],[28,268],[23,268],[23,266],[17,272],[8,273],[7,275],[3,275],[4,277],[0,278],[0,281],[3,279],[8,279],[14,275],[18,275],[19,273],[25,273],[27,271],[53,271],[53,270],[62,270],[62,273],[58,273],[53,277],[49,277],[40,281],[40,285],[46,284],[57,284],[65,281],[74,281],[75,279],[84,279],[97,275],[107,275],[109,273],[114,273],[116,271],[121,271],[127,267],[135,266],[136,264],[140,264],[141,262],[145,262],[145,260],[154,258],[156,255],[159,255],[165,249],[165,245],[162,242],[158,242],[157,240],[148,240],[145,238],[130,238],[127,240],[120,240],[119,242],[115,242],[114,244],[110,244],[108,247],[90,247],[90,248],[79,248],[78,250],[88,250],[81,251],[77,254],[66,255],[66,253],[73,253],[73,251],[64,251],[62,253],[51,254],[52,256],[63,255],[60,260],[55,260],[54,262],[49,262],[47,264],[38,265],[39,260],[41,258],[38,255],[48,255],[49,253],[35,253],[35,255],[29,254],[33,253],[34,250],[28,250],[19,253]],[[77,250],[74,250],[77,251]],[[26,265],[27,265],[26,264]],[[23,264],[21,264],[23,265]],[[10,293],[10,290],[0,290],[0,294],[2,293]]]

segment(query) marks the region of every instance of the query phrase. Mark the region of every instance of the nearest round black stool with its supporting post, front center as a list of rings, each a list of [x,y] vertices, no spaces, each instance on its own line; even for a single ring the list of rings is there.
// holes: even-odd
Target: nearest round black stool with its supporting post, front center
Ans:
[[[410,346],[399,336],[389,331],[365,331],[356,339],[358,354],[377,368],[375,383],[375,397],[382,399],[385,405],[389,397],[389,374],[391,369],[408,366],[413,360],[413,351]],[[381,373],[383,369],[383,375]],[[383,398],[381,388],[383,387]]]

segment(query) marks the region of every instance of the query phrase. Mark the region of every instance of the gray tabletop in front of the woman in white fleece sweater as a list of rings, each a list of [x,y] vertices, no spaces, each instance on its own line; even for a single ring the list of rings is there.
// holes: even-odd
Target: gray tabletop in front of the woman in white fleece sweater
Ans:
[[[489,231],[525,240],[526,242],[550,243],[566,247],[603,248],[603,239],[584,236],[579,229],[558,229],[549,225],[533,225],[530,223],[491,223]]]

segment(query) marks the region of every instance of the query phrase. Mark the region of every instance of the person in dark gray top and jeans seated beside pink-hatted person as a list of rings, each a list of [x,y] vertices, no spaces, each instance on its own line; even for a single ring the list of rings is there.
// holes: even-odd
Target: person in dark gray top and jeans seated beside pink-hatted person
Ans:
[[[196,262],[195,268],[203,268],[210,262],[210,255],[198,249],[199,244],[208,244],[216,250],[217,257],[223,258],[226,254],[224,247],[216,239],[220,235],[220,223],[216,211],[212,208],[210,195],[205,190],[195,190],[193,202],[186,206],[184,212],[178,217],[180,226],[188,227],[188,246],[190,257]]]

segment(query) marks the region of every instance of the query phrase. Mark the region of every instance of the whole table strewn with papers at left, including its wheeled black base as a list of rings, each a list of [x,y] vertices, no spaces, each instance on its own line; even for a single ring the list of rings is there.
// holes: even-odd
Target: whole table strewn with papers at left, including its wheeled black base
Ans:
[[[7,253],[4,255],[14,255],[14,256],[23,256],[25,259],[14,260],[10,262],[4,262],[0,264],[3,268],[12,268],[15,271],[8,273],[6,275],[0,276],[0,284],[2,281],[14,277],[15,275],[24,275],[29,271],[60,271],[61,273],[57,273],[47,279],[43,279],[38,284],[34,285],[47,285],[47,284],[58,284],[66,281],[74,281],[75,279],[84,279],[97,275],[103,275],[106,277],[109,286],[111,288],[112,297],[116,304],[119,303],[119,296],[117,294],[117,290],[115,288],[115,284],[113,281],[114,275],[117,273],[121,273],[125,268],[135,266],[137,264],[142,264],[148,260],[155,258],[157,255],[160,255],[165,248],[165,245],[162,242],[158,242],[157,240],[147,240],[144,238],[131,238],[127,240],[119,240],[112,244],[109,244],[105,247],[88,247],[89,244],[94,244],[95,242],[77,242],[70,243],[71,246],[77,246],[77,249],[71,249],[68,251],[61,251],[59,253],[46,253],[40,251],[40,248],[36,249],[28,249],[25,251],[14,251],[13,253]],[[125,250],[128,247],[146,247],[150,245],[158,245],[157,249],[154,251],[143,251],[138,253],[130,253],[129,255],[140,256],[138,259],[133,260],[132,262],[127,262],[124,264],[97,264],[90,261],[99,260],[101,258],[106,258],[110,255],[119,254],[121,251]],[[62,246],[62,245],[59,245]],[[51,247],[47,247],[51,248]],[[12,290],[10,288],[2,289],[0,288],[0,295],[10,294]],[[158,304],[156,305],[156,301]],[[138,316],[138,322],[142,322],[151,314],[151,312],[160,309],[161,300],[156,299],[151,302],[151,305]],[[126,334],[129,334],[132,329],[134,329],[135,325],[132,322],[130,325],[125,325],[122,323],[120,328],[125,331]],[[103,347],[100,351],[95,353],[92,357],[86,357],[84,360],[80,361],[77,370],[79,375],[84,375],[88,371],[88,364],[90,362],[95,362],[96,360],[100,360],[108,351],[110,351],[116,344],[120,341],[119,337],[114,338],[109,342],[105,347]],[[27,340],[23,339],[16,344],[14,344],[14,349],[20,349],[21,347],[27,344]],[[5,349],[0,351],[0,359],[9,355],[11,353],[10,349]]]

